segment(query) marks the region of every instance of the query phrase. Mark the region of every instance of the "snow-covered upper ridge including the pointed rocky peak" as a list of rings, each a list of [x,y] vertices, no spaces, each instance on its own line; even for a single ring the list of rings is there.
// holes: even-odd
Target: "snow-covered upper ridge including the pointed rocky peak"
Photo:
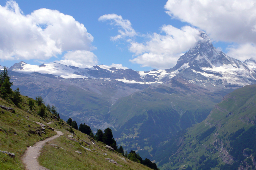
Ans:
[[[238,88],[256,83],[256,62],[252,58],[242,63],[229,57],[213,47],[210,38],[203,31],[200,33],[202,40],[182,55],[175,67],[166,70],[134,71],[105,65],[78,68],[59,63],[37,66],[26,64],[23,61],[14,64],[9,70],[26,74],[32,72],[53,74],[64,79],[93,78],[139,84],[165,84],[173,78],[183,78],[189,83],[201,86],[222,88]]]

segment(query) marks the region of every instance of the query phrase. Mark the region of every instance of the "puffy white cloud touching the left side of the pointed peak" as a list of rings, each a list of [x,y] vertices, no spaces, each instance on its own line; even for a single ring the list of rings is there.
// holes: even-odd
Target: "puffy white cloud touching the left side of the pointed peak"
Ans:
[[[171,68],[183,52],[201,39],[199,31],[189,26],[178,29],[167,25],[161,28],[161,32],[165,34],[154,33],[145,43],[131,42],[129,50],[137,57],[129,61],[142,67]]]

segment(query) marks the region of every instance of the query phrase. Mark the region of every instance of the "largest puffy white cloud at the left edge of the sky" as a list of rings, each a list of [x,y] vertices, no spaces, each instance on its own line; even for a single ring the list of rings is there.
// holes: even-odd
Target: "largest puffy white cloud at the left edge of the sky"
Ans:
[[[93,36],[72,16],[39,9],[24,15],[15,1],[0,6],[0,59],[46,60],[63,51],[91,50]]]

